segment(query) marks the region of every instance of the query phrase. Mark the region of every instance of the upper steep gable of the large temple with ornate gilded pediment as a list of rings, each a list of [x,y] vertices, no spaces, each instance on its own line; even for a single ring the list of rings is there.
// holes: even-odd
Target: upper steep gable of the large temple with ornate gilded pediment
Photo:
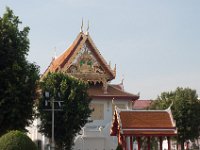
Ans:
[[[116,68],[111,69],[91,37],[82,32],[62,55],[52,60],[44,74],[58,71],[93,83],[111,81],[116,75]]]

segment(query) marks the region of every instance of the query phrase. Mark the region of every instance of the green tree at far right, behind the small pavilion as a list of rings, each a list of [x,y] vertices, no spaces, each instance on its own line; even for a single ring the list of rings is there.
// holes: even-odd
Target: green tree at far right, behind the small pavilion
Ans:
[[[175,91],[163,92],[151,109],[166,109],[173,103],[171,109],[178,128],[178,142],[184,149],[184,142],[199,136],[200,103],[196,90],[177,88]]]

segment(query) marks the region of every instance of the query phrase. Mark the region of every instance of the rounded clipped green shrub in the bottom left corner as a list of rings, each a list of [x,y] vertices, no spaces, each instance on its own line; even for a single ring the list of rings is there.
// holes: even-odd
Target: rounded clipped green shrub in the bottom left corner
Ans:
[[[37,147],[24,133],[10,131],[0,138],[0,150],[37,150]]]

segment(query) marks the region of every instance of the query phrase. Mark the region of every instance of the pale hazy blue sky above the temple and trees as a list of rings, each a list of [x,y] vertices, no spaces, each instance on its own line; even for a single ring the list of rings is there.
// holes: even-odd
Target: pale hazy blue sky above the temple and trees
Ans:
[[[28,59],[41,73],[67,49],[81,19],[125,90],[155,99],[176,87],[200,95],[200,0],[0,0],[31,28]]]

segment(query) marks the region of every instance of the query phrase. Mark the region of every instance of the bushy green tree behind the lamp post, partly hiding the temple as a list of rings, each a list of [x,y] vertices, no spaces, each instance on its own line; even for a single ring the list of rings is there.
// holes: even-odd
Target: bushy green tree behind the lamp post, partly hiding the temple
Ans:
[[[49,73],[40,84],[43,95],[38,102],[38,112],[41,119],[40,132],[51,138],[51,106],[45,106],[45,101],[63,101],[62,111],[55,111],[55,142],[59,148],[70,150],[74,137],[88,122],[92,110],[89,108],[91,99],[87,94],[88,86],[73,77],[63,73]],[[49,99],[45,95],[49,92]],[[55,108],[58,104],[55,103]]]

